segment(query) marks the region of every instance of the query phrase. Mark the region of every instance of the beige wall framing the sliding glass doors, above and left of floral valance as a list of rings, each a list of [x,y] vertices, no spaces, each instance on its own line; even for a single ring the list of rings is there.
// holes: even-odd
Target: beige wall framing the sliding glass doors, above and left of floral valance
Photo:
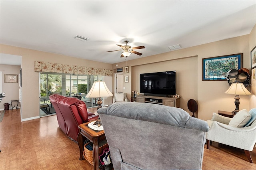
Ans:
[[[112,69],[108,63],[100,63],[86,59],[69,57],[54,53],[47,53],[10,45],[1,44],[0,53],[22,56],[22,120],[35,119],[39,117],[39,73],[34,71],[34,61],[45,61],[51,63],[80,65]],[[4,90],[4,89],[3,89]]]

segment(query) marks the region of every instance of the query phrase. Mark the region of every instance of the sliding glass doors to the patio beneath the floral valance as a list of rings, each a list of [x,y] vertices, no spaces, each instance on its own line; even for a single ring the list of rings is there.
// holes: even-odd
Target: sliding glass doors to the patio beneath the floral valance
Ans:
[[[99,75],[40,73],[40,117],[56,114],[49,100],[49,96],[54,93],[77,97],[86,103],[87,108],[98,106],[98,98],[86,98],[86,95],[93,82],[102,79],[103,76]]]

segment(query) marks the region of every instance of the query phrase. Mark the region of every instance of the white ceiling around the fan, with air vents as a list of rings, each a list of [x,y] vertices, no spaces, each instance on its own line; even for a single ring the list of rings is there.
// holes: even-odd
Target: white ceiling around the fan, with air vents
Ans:
[[[250,34],[255,24],[256,0],[0,1],[0,43],[105,63],[125,61],[106,53],[124,40],[146,47],[131,60]]]

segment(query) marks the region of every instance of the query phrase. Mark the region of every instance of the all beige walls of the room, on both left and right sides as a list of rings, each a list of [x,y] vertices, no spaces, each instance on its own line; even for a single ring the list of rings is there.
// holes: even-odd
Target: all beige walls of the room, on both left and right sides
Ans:
[[[212,113],[218,110],[233,111],[235,105],[234,96],[224,93],[229,87],[227,81],[202,81],[202,58],[243,53],[243,67],[250,70],[250,51],[255,45],[256,26],[249,35],[112,65],[3,44],[0,46],[0,53],[22,56],[22,119],[39,115],[39,74],[34,72],[34,61],[46,61],[105,69],[116,69],[127,64],[129,73],[124,73],[124,75],[129,75],[130,81],[124,83],[124,93],[127,93],[128,98],[131,97],[132,90],[139,90],[140,73],[176,70],[176,88],[177,94],[181,96],[182,109],[188,111],[188,99],[195,99],[198,102],[196,116],[207,120],[211,119]],[[117,67],[116,64],[118,64]],[[256,82],[254,80],[251,83],[250,91],[253,95],[240,96],[240,109],[249,110],[256,107]],[[114,79],[112,79],[112,84],[114,84]],[[114,86],[112,86],[112,91],[114,91]],[[34,95],[31,95],[32,93]]]

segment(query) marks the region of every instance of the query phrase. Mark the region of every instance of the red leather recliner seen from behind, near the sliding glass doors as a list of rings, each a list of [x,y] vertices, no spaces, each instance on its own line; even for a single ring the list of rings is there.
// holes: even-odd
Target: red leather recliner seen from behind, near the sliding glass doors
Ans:
[[[50,95],[49,98],[56,111],[59,127],[76,142],[79,132],[78,125],[98,119],[98,115],[88,113],[86,104],[77,98],[58,94]]]

